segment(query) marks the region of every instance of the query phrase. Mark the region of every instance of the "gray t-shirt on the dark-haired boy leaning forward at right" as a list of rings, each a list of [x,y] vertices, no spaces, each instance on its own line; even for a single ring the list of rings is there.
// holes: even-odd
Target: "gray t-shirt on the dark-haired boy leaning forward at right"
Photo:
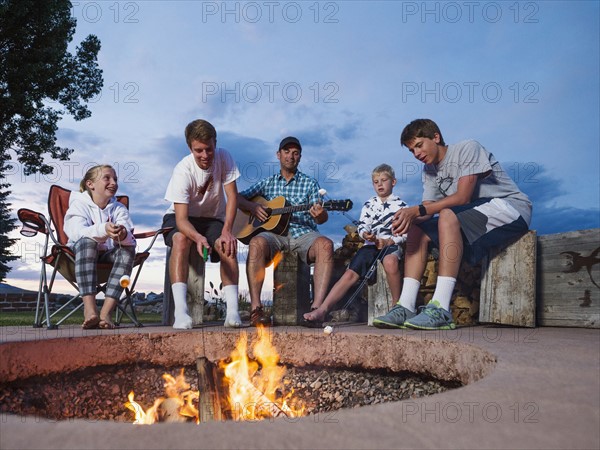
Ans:
[[[494,155],[474,140],[448,146],[439,164],[423,167],[423,201],[437,201],[456,193],[458,180],[467,175],[491,171],[477,181],[472,201],[479,198],[502,198],[515,208],[527,225],[531,222],[531,201],[502,169]]]

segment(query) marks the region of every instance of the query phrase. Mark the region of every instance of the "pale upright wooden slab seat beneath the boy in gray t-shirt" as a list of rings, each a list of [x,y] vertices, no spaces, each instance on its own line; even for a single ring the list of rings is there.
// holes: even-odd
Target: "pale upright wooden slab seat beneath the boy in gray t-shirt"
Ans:
[[[535,327],[536,232],[484,258],[479,321]]]

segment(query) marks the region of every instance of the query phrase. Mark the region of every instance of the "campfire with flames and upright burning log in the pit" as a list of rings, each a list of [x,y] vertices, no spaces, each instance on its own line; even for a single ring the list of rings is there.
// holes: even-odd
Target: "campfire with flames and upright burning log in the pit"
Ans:
[[[299,417],[305,414],[303,402],[286,386],[286,368],[279,364],[279,354],[267,329],[258,329],[259,339],[248,356],[248,335],[240,334],[235,349],[226,360],[213,363],[205,357],[196,361],[198,391],[190,390],[183,369],[178,376],[164,374],[165,397],[144,410],[128,395],[125,406],[133,411],[134,424],[156,422],[196,423],[211,420],[261,420],[276,417]]]

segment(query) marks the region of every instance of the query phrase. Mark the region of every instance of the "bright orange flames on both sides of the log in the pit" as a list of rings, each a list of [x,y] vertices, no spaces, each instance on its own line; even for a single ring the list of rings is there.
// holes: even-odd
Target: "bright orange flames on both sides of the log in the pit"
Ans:
[[[229,385],[229,404],[234,420],[259,420],[271,417],[300,417],[304,415],[302,402],[293,398],[293,390],[285,388],[285,367],[279,365],[279,354],[265,328],[258,328],[259,339],[252,347],[254,359],[248,358],[248,335],[243,332],[231,352],[229,361],[219,363]],[[166,397],[158,398],[148,409],[128,395],[125,406],[135,414],[134,424],[153,424],[159,421],[187,421],[200,423],[196,405],[200,394],[190,390],[183,369],[177,377],[164,374]],[[195,403],[194,403],[195,402]]]

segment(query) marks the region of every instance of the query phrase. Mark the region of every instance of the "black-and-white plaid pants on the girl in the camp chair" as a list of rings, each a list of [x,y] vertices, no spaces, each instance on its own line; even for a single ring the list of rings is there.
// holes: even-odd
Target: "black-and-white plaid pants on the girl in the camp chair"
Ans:
[[[81,238],[73,245],[75,253],[75,278],[79,286],[79,293],[84,295],[96,295],[98,293],[98,263],[112,263],[112,269],[106,282],[106,297],[119,300],[123,288],[119,283],[125,274],[131,275],[133,260],[135,258],[135,247],[114,247],[111,250],[100,253],[98,243],[90,238]]]

